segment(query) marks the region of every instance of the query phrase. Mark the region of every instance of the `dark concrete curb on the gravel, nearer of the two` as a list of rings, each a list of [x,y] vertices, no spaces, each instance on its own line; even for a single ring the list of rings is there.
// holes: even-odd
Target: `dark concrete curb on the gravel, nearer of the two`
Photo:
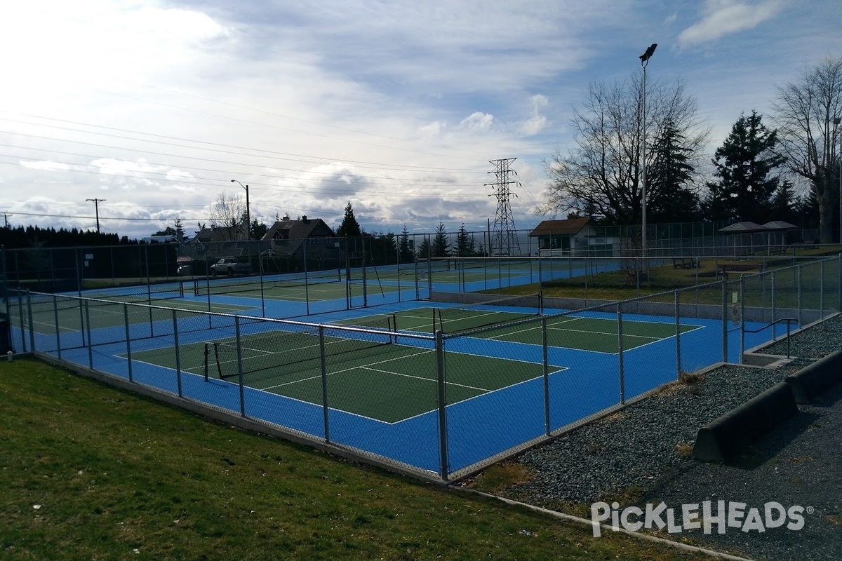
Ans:
[[[798,405],[790,384],[775,384],[701,427],[695,437],[693,455],[702,462],[730,463],[745,445],[797,412]]]

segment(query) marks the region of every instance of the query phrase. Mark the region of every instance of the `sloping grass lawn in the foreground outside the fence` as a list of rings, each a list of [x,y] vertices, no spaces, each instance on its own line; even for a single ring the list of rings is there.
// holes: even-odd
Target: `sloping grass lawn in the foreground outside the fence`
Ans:
[[[0,557],[691,559],[0,363]]]

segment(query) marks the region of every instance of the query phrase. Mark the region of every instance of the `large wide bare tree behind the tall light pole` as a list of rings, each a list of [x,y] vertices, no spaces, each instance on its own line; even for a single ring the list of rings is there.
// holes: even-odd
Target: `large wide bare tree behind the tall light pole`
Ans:
[[[562,154],[557,151],[545,161],[550,183],[544,214],[573,211],[604,218],[612,224],[639,224],[642,218],[640,155],[642,149],[642,77],[634,74],[613,85],[594,82],[584,108],[571,119],[576,144]],[[681,82],[647,83],[647,145],[671,127],[681,140],[690,171],[702,160],[707,130],[696,117],[695,98],[685,93]],[[647,150],[647,170],[657,151]],[[670,214],[674,189],[695,185],[647,184],[647,214]]]

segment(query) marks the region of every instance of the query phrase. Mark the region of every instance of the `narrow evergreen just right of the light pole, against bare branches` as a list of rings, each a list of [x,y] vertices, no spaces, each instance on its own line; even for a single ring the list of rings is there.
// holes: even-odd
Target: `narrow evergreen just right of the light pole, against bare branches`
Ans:
[[[687,186],[695,171],[692,150],[668,119],[653,142],[653,161],[647,167],[647,215],[655,223],[693,222],[699,218],[699,197]]]

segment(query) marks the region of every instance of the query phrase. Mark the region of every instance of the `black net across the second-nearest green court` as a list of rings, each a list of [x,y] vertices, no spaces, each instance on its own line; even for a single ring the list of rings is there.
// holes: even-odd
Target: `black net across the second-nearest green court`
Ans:
[[[536,293],[462,304],[453,308],[439,308],[438,313],[434,312],[433,322],[434,329],[440,329],[443,333],[458,333],[491,325],[503,325],[543,313],[543,296]]]

